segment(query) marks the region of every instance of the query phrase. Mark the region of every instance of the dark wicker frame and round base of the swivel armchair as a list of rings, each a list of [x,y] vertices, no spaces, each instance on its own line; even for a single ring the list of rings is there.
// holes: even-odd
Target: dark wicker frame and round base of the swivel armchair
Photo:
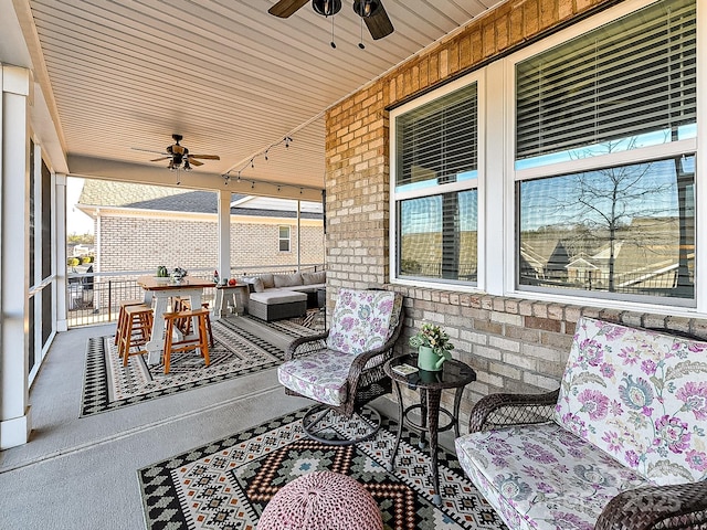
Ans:
[[[319,442],[331,445],[352,445],[370,438],[378,432],[380,428],[380,415],[374,411],[363,413],[363,409],[374,399],[392,392],[392,382],[390,378],[386,375],[383,364],[393,357],[393,348],[400,337],[404,320],[402,311],[403,309],[401,308],[398,325],[386,343],[380,348],[358,354],[351,363],[351,368],[349,369],[347,377],[348,399],[346,402],[338,406],[318,403],[307,412],[303,418],[303,425],[307,435]],[[295,339],[285,351],[285,361],[326,350],[328,336],[329,332],[326,331],[324,333]],[[285,393],[287,395],[302,395],[287,388],[285,388]],[[347,418],[350,418],[355,414],[359,415],[362,421],[370,426],[370,428],[362,436],[359,436],[356,439],[345,441],[319,437],[315,434],[317,431],[316,423],[327,417],[330,412],[340,414]]]

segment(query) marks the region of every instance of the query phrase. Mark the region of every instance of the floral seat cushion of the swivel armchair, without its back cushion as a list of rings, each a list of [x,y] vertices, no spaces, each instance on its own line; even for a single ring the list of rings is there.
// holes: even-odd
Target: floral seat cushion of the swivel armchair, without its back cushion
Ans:
[[[347,380],[355,359],[341,351],[320,350],[284,362],[277,369],[277,379],[306,398],[339,406],[348,396]]]

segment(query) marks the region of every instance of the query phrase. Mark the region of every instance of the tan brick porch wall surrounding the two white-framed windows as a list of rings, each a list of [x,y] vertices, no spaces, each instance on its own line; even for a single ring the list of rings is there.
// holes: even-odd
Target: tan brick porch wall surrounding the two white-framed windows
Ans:
[[[462,404],[462,424],[479,398],[498,391],[545,392],[561,378],[582,315],[707,336],[707,321],[390,284],[389,109],[538,41],[616,0],[511,0],[386,73],[326,115],[327,266],[329,304],[339,287],[384,286],[405,299],[398,348],[423,321],[446,327],[455,358],[477,382]],[[590,300],[588,300],[589,303]],[[598,304],[598,300],[594,300]],[[443,395],[452,404],[452,394]]]

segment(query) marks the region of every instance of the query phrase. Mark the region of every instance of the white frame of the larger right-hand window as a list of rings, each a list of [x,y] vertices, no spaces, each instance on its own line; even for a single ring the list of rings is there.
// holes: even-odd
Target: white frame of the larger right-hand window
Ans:
[[[505,80],[507,89],[505,93],[507,97],[505,99],[504,114],[506,116],[505,127],[507,134],[506,137],[506,193],[504,194],[504,210],[505,225],[509,230],[505,233],[505,255],[504,261],[504,289],[502,293],[490,293],[504,296],[513,296],[520,298],[530,298],[546,301],[558,301],[563,304],[576,304],[579,306],[597,306],[605,308],[637,310],[637,311],[655,311],[667,312],[672,315],[686,315],[694,316],[697,314],[705,314],[707,311],[707,244],[706,236],[707,231],[703,227],[700,230],[699,219],[703,215],[700,210],[707,204],[707,186],[703,186],[703,181],[707,179],[704,168],[707,167],[707,149],[701,147],[698,149],[698,138],[707,138],[707,120],[697,120],[697,138],[687,140],[674,141],[659,146],[652,146],[650,148],[635,149],[632,151],[623,151],[616,153],[610,153],[604,156],[597,156],[590,159],[576,160],[571,162],[560,162],[549,166],[542,166],[538,168],[531,168],[526,170],[516,170],[515,163],[515,123],[516,123],[516,89],[515,89],[515,68],[516,64],[525,61],[526,59],[537,55],[550,47],[560,45],[569,40],[587,33],[600,25],[612,22],[621,17],[633,13],[634,11],[655,3],[655,0],[627,0],[614,8],[608,9],[594,17],[583,20],[571,28],[560,31],[542,41],[532,44],[504,60],[505,64]],[[705,31],[705,24],[707,23],[706,10],[700,9],[699,0],[697,1],[697,109],[698,116],[704,116],[706,108],[707,95],[705,88],[707,87],[707,52],[704,50],[703,44],[705,38],[707,38],[707,31]],[[489,84],[489,86],[492,86]],[[490,113],[492,109],[487,108]],[[701,145],[706,142],[703,140]],[[595,297],[584,297],[568,294],[546,294],[535,293],[529,290],[521,290],[516,287],[516,269],[518,266],[518,257],[516,255],[516,198],[515,198],[515,184],[518,181],[535,179],[539,177],[553,177],[566,173],[581,172],[588,169],[594,169],[598,167],[606,167],[612,165],[624,163],[637,163],[641,161],[657,160],[669,157],[682,156],[684,152],[696,153],[696,170],[695,170],[695,307],[675,306],[672,304],[657,304],[648,301],[623,301],[614,298],[604,299]],[[700,170],[701,168],[701,170]],[[490,206],[490,203],[489,203]],[[671,299],[666,299],[669,301]]]

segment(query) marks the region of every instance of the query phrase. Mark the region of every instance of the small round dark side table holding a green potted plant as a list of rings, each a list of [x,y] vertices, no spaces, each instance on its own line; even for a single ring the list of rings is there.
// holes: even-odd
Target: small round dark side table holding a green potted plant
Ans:
[[[398,396],[398,435],[395,437],[395,447],[393,448],[392,455],[390,456],[390,463],[388,464],[388,470],[392,470],[394,467],[395,454],[400,446],[403,423],[408,427],[421,434],[420,448],[424,447],[425,433],[429,434],[430,457],[432,458],[432,480],[434,484],[434,496],[432,500],[436,506],[440,506],[442,505],[442,496],[440,495],[440,474],[437,466],[437,435],[441,432],[454,428],[454,434],[458,438],[458,417],[462,394],[464,393],[464,386],[476,381],[476,372],[474,372],[468,364],[455,359],[444,361],[442,370],[437,372],[418,370],[409,375],[403,375],[393,370],[394,367],[400,364],[416,367],[418,356],[395,357],[383,365],[386,374],[393,380],[393,383],[395,383],[393,386],[395,389],[395,395]],[[401,384],[404,384],[409,389],[418,390],[420,393],[420,403],[403,407],[402,393],[400,392]],[[456,389],[456,392],[454,393],[454,407],[452,411],[447,411],[440,406],[442,390],[444,389]],[[410,417],[410,413],[418,410],[422,416],[421,423],[418,423]],[[440,414],[443,414],[449,418],[446,424],[440,425]]]

